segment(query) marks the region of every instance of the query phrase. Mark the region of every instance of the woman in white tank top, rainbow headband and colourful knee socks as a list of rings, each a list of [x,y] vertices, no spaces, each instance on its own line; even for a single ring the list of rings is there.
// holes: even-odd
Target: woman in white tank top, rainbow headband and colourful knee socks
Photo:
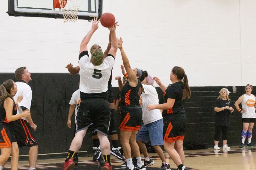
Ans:
[[[239,146],[240,148],[244,148],[244,141],[246,136],[248,137],[247,146],[255,146],[251,143],[252,140],[252,128],[255,123],[255,100],[256,97],[251,94],[252,85],[247,84],[245,86],[245,94],[240,96],[235,103],[236,109],[238,112],[242,113],[242,121],[243,121],[243,131],[241,134],[242,143]],[[239,108],[239,104],[242,103],[242,110]]]

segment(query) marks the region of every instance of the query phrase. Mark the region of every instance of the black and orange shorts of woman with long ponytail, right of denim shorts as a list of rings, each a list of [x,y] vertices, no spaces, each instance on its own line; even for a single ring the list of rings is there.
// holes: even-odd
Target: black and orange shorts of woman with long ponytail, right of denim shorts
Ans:
[[[175,142],[176,140],[184,140],[186,131],[186,114],[172,114],[163,117],[164,121],[164,141]]]

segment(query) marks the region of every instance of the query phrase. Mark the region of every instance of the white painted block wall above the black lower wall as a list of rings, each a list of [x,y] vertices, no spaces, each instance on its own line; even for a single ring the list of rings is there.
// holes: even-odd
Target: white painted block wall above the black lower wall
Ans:
[[[27,66],[32,73],[67,73],[68,63],[78,65],[90,22],[9,17],[7,8],[0,0],[0,72]],[[103,12],[119,21],[131,66],[166,85],[174,66],[185,69],[190,86],[256,85],[255,0],[103,0]],[[89,46],[105,49],[108,33],[100,25]],[[113,86],[121,63],[118,51]]]

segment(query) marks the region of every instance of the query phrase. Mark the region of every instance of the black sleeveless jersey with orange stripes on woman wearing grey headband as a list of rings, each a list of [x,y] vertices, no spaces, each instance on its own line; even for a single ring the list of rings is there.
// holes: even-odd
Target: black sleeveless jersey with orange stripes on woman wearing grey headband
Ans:
[[[140,106],[141,82],[138,80],[136,87],[132,87],[129,81],[125,83],[121,92],[120,106]]]

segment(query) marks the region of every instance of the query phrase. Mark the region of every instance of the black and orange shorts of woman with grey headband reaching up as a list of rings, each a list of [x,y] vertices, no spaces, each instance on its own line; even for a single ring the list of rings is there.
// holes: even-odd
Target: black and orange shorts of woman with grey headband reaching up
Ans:
[[[123,131],[140,130],[142,109],[140,106],[121,106],[119,129]]]

